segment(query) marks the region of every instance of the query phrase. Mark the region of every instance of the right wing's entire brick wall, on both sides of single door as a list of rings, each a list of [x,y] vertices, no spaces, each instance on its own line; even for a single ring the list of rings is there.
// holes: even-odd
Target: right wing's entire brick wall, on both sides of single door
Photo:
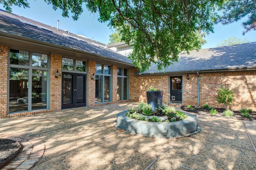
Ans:
[[[169,75],[162,76],[134,76],[138,69],[130,69],[130,99],[131,101],[146,102],[146,91],[152,85],[164,91],[163,102],[168,103]],[[256,111],[256,71],[234,71],[226,73],[199,73],[200,75],[200,101],[199,105],[207,103],[213,107],[224,108],[217,105],[216,91],[224,86],[234,92],[233,110],[242,107]],[[197,74],[182,75],[183,105],[198,104],[198,77]]]

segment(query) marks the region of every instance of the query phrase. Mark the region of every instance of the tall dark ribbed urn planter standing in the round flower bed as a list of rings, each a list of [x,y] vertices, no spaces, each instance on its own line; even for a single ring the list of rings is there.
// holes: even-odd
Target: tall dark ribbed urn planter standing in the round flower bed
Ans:
[[[152,110],[155,111],[156,108],[162,107],[163,101],[163,91],[147,91],[147,103],[152,106]]]

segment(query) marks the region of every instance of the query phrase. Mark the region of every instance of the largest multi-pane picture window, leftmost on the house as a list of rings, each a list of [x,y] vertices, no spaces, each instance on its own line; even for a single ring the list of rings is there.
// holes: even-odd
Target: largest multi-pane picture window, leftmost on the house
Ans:
[[[10,49],[9,113],[47,108],[48,55]]]

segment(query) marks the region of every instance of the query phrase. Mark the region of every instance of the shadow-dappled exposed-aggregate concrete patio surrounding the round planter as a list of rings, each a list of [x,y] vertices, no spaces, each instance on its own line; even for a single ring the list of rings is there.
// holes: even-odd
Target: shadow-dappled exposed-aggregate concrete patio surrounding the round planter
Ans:
[[[198,115],[202,130],[177,139],[134,136],[113,126],[117,113],[137,106],[127,102],[0,119],[0,137],[29,136],[26,144],[32,144],[22,151],[30,158],[4,169],[256,169],[256,121]]]

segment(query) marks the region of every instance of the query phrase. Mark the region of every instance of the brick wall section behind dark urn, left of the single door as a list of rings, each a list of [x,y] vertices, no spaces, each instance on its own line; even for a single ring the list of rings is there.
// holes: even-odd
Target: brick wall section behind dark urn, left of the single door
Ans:
[[[146,91],[150,86],[158,87],[163,91],[163,103],[168,104],[168,75],[161,76],[134,76],[138,69],[130,69],[130,100],[137,102],[147,102]]]

